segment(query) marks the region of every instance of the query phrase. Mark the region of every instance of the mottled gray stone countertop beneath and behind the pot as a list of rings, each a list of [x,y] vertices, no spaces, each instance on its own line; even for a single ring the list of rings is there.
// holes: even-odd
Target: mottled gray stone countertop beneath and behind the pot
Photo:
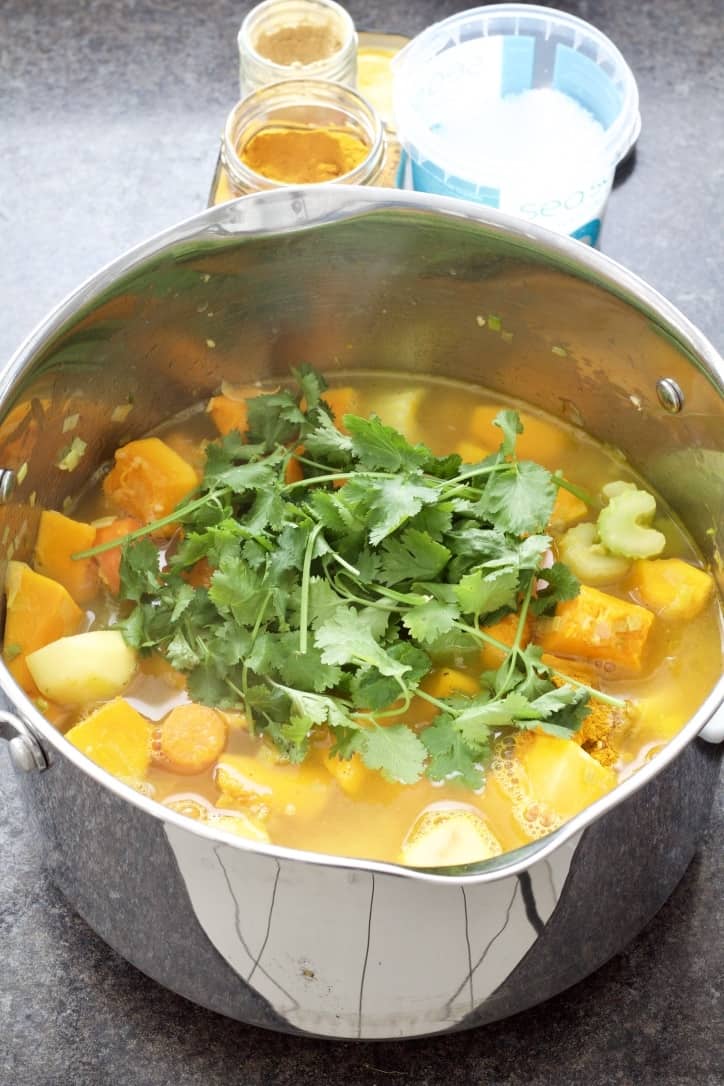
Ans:
[[[416,33],[469,4],[354,0]],[[619,45],[644,127],[601,248],[724,345],[722,0],[561,0]],[[205,205],[236,100],[246,3],[4,0],[0,7],[0,358],[100,265]],[[4,747],[4,744],[3,744]],[[524,1014],[406,1044],[267,1034],[170,995],[110,950],[43,873],[0,750],[1,1086],[344,1082],[724,1083],[724,807],[644,933]]]

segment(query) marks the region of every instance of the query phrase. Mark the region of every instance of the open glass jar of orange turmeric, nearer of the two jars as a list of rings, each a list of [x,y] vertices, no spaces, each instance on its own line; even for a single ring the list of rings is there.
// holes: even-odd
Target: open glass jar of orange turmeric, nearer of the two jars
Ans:
[[[288,185],[380,184],[380,117],[356,91],[326,80],[262,87],[229,114],[209,205]]]

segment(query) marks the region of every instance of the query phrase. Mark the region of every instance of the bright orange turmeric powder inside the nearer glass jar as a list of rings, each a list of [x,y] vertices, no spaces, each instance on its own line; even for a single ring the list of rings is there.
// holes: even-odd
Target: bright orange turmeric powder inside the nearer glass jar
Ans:
[[[343,128],[264,128],[239,156],[250,169],[285,185],[333,181],[369,154],[357,135]]]

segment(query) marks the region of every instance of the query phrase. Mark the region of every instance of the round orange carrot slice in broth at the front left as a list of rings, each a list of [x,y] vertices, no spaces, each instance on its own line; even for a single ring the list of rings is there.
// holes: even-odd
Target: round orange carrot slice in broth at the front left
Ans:
[[[226,746],[228,728],[216,709],[179,705],[164,718],[154,741],[154,755],[174,773],[203,773]]]

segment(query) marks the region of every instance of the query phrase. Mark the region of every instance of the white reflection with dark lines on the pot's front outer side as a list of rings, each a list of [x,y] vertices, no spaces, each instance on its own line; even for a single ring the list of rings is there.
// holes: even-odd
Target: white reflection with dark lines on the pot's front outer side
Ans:
[[[422,895],[404,876],[166,835],[223,958],[290,1026],[336,1037],[389,1037],[401,1012],[405,1034],[459,1025],[543,932],[577,842],[493,885]]]

